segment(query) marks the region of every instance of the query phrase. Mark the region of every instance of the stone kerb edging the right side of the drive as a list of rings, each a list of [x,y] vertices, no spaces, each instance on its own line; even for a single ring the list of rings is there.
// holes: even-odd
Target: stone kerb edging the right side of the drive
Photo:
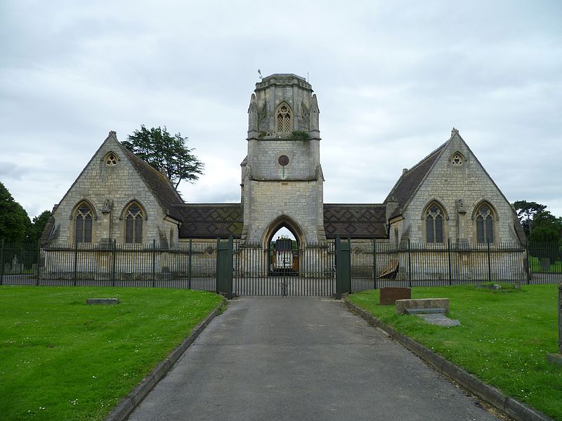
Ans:
[[[410,349],[411,352],[426,361],[426,363],[429,363],[429,365],[435,368],[439,373],[443,373],[452,380],[455,380],[455,382],[459,383],[459,385],[464,387],[464,389],[468,390],[472,394],[475,394],[480,399],[483,399],[483,401],[490,403],[490,405],[495,406],[495,408],[502,410],[504,413],[514,418],[514,420],[554,421],[553,418],[525,406],[524,403],[517,401],[516,399],[504,395],[502,392],[499,392],[499,390],[491,387],[490,385],[486,385],[475,376],[466,372],[464,369],[443,358],[443,356],[431,351],[431,349],[427,349],[402,333],[396,332],[396,330],[391,328],[391,326],[386,325],[369,312],[366,312],[364,309],[361,309],[349,302],[347,297],[344,297],[344,303],[351,312],[360,315],[372,326],[377,326],[377,328],[384,330],[393,340],[396,340],[400,343],[400,345],[403,345],[403,347]]]

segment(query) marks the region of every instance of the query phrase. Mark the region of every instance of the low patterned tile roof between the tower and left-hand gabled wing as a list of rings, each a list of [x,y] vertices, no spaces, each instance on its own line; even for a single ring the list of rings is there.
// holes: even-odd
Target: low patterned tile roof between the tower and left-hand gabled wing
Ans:
[[[181,239],[240,239],[244,218],[240,203],[184,203],[172,206],[183,221]]]

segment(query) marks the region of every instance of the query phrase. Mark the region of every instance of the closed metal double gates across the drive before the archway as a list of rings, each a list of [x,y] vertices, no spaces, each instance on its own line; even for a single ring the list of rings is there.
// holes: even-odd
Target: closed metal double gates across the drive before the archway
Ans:
[[[335,260],[334,241],[290,250],[235,243],[233,293],[332,296]]]

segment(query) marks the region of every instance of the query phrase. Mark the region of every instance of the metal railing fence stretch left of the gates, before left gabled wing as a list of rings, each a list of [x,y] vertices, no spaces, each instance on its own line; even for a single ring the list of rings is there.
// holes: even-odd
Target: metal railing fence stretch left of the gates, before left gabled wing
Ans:
[[[33,265],[10,263],[9,259],[20,262],[24,256],[31,261],[27,255],[34,256]],[[34,248],[4,244],[0,247],[0,262],[4,269],[0,271],[0,284],[216,290],[215,241],[188,241],[172,246],[155,241],[58,243],[44,248],[37,244]]]

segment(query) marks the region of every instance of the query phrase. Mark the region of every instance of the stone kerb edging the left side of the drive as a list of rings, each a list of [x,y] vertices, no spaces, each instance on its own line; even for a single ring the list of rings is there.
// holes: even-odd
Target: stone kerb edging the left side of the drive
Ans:
[[[139,403],[145,399],[148,392],[155,387],[157,383],[164,378],[166,373],[181,355],[190,347],[193,341],[202,333],[204,328],[215,318],[215,316],[221,312],[223,307],[226,305],[226,300],[223,300],[221,304],[216,306],[214,310],[207,316],[204,321],[199,323],[193,330],[188,338],[185,338],[174,351],[172,351],[166,359],[159,363],[149,375],[147,375],[127,396],[125,396],[117,406],[111,411],[110,415],[107,415],[105,421],[124,421],[131,415],[133,410],[138,406]]]

